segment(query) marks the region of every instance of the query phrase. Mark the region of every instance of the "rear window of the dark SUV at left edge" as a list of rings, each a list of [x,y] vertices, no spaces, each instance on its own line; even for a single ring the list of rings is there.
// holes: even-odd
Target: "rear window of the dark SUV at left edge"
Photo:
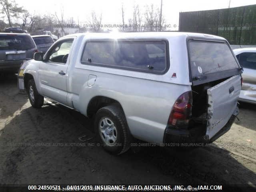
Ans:
[[[0,36],[0,50],[28,50],[35,48],[34,42],[27,35]]]

